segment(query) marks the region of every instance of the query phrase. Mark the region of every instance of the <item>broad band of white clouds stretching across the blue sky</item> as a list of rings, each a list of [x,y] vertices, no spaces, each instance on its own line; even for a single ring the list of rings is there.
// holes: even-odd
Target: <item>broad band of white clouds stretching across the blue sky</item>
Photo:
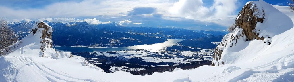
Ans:
[[[0,16],[8,19],[37,19],[37,18],[52,18],[52,22],[74,22],[83,21],[79,17],[111,17],[121,19],[132,19],[128,17],[128,11],[132,11],[136,7],[152,7],[156,11],[147,17],[156,17],[172,20],[185,21],[187,19],[196,20],[201,23],[217,23],[219,25],[228,26],[234,19],[234,12],[237,9],[237,0],[214,0],[213,5],[203,6],[202,0],[83,0],[62,1],[53,4],[45,5],[40,8],[24,8],[15,9],[12,7],[0,6]],[[126,4],[127,3],[127,4]],[[65,17],[66,19],[53,19]],[[48,20],[48,19],[46,19]],[[140,19],[141,20],[141,19]],[[50,20],[48,20],[50,21]],[[50,21],[51,22],[51,21]],[[88,20],[91,24],[98,24],[100,21]],[[100,22],[109,23],[109,22]],[[146,22],[144,22],[146,23]]]

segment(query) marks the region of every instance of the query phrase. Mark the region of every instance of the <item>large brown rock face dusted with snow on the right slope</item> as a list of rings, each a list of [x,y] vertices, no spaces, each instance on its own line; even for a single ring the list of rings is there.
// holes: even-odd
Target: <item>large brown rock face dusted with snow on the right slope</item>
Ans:
[[[256,29],[256,24],[258,22],[263,23],[264,17],[265,11],[262,7],[258,7],[252,2],[246,4],[235,19],[236,28],[234,31],[225,35],[222,42],[214,50],[211,66],[224,65],[225,61],[219,61],[222,57],[223,50],[227,47],[233,47],[237,44],[238,40],[265,40],[265,37],[259,37],[260,29]],[[268,43],[270,44],[270,42]]]

